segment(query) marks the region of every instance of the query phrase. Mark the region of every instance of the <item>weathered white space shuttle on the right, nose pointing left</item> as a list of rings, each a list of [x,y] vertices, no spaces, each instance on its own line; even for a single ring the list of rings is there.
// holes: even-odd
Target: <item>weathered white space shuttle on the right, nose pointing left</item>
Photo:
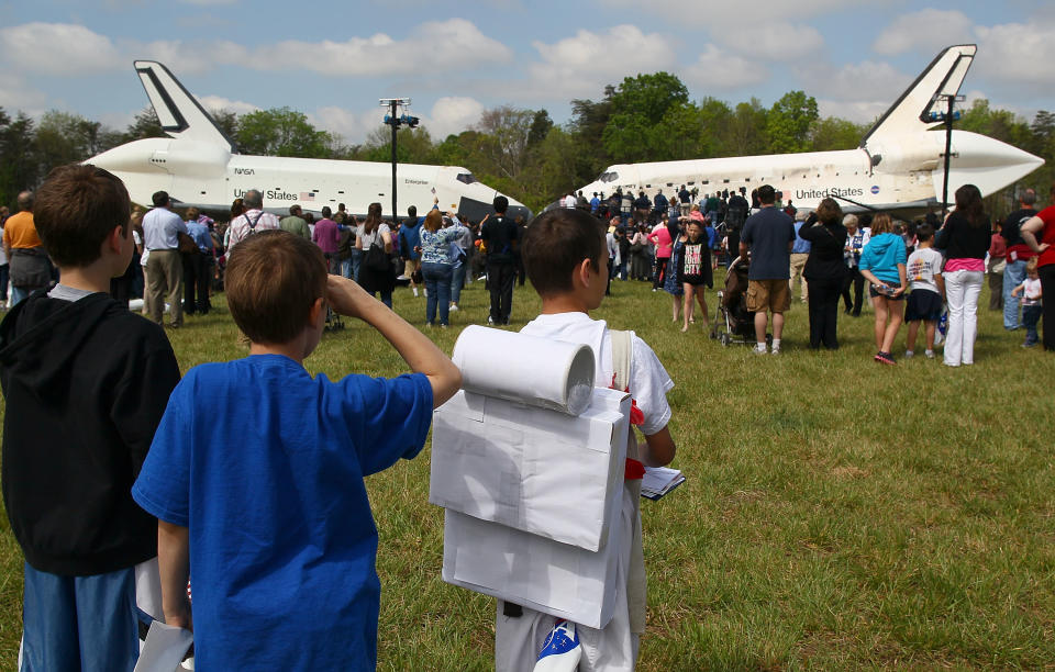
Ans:
[[[902,211],[907,216],[942,205],[945,177],[943,97],[956,96],[975,58],[973,44],[945,48],[879,117],[856,149],[776,154],[610,166],[581,187],[611,194],[617,188],[649,197],[681,184],[699,193],[746,191],[771,184],[784,202],[815,209],[834,198],[843,210]],[[932,114],[934,113],[934,114]],[[948,194],[971,183],[989,195],[1044,164],[1044,159],[985,135],[952,132]],[[904,212],[909,211],[909,212]]]

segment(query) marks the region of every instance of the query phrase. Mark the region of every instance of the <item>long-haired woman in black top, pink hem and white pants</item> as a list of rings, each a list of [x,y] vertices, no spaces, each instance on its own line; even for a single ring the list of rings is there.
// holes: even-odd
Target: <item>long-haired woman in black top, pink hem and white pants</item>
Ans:
[[[982,211],[981,192],[974,184],[956,190],[956,210],[934,236],[934,247],[945,251],[945,301],[948,332],[945,335],[947,367],[975,363],[978,335],[978,295],[986,277],[989,250],[989,217]]]

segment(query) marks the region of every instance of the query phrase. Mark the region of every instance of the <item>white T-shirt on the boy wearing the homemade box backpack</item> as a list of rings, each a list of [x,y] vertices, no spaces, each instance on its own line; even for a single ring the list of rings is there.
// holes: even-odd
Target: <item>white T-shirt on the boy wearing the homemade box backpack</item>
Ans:
[[[612,361],[612,337],[603,320],[593,320],[586,313],[538,315],[521,329],[522,334],[553,338],[565,343],[581,343],[593,349],[597,358],[595,383],[611,387],[615,365]],[[631,333],[633,354],[630,366],[630,393],[645,416],[638,427],[646,436],[656,434],[670,422],[667,392],[674,381],[663,368],[659,358],[644,340]]]

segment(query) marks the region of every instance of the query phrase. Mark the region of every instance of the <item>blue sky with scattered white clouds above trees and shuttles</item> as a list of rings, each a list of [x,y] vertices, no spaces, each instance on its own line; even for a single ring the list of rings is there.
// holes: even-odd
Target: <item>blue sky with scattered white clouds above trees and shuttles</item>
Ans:
[[[147,104],[132,60],[153,58],[207,108],[288,105],[352,143],[380,126],[384,97],[412,98],[443,137],[501,104],[564,122],[570,100],[657,70],[693,99],[802,89],[822,114],[868,121],[963,42],[979,45],[968,98],[1055,110],[1041,0],[0,1],[0,107],[123,128]]]

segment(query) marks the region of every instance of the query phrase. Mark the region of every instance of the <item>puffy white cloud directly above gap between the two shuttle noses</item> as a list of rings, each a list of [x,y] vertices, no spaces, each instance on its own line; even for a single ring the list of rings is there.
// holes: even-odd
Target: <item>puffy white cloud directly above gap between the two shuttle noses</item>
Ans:
[[[677,64],[669,38],[644,34],[634,25],[617,25],[603,33],[579,30],[554,44],[532,42],[542,61],[528,66],[529,88],[548,99],[597,96],[604,85],[625,76],[671,69]]]

